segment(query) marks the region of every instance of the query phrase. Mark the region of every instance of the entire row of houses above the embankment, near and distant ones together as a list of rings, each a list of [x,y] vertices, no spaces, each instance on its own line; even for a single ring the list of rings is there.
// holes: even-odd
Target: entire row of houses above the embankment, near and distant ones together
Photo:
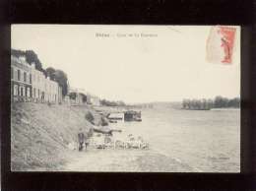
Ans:
[[[11,56],[11,95],[12,101],[100,105],[99,97],[83,89],[68,88],[63,98],[58,83],[36,70],[35,64],[30,65],[25,56]]]

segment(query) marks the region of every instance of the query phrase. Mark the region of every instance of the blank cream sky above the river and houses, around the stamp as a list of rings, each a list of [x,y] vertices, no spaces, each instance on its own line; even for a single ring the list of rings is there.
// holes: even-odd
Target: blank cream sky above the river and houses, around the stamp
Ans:
[[[127,103],[240,96],[240,30],[231,64],[210,63],[211,26],[13,25],[12,48],[32,49],[71,87]],[[100,35],[99,35],[100,34]],[[142,35],[143,34],[143,35]]]

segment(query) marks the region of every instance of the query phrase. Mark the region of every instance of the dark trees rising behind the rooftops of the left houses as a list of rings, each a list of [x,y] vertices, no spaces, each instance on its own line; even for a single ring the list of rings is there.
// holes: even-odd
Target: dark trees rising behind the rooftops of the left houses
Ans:
[[[41,71],[45,77],[50,77],[52,81],[55,81],[62,88],[62,96],[68,94],[68,77],[62,70],[54,69],[53,67],[48,67],[43,69],[42,63],[40,62],[37,54],[33,50],[17,50],[12,49],[11,54],[15,57],[25,56],[26,61],[32,65],[34,63],[35,69]]]

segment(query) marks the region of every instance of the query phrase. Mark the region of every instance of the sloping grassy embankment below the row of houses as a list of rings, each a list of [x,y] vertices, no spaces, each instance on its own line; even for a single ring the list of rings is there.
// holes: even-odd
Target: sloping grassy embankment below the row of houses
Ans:
[[[93,128],[85,118],[88,112],[100,125],[100,115],[87,106],[12,103],[12,170],[55,170],[65,164],[72,153],[69,145],[77,142],[79,129],[88,132]]]

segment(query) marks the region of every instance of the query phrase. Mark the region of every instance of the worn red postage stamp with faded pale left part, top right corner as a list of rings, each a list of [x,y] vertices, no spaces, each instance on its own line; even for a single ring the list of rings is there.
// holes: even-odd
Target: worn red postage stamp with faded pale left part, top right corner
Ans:
[[[207,61],[211,63],[232,63],[236,28],[215,26],[207,40]]]

